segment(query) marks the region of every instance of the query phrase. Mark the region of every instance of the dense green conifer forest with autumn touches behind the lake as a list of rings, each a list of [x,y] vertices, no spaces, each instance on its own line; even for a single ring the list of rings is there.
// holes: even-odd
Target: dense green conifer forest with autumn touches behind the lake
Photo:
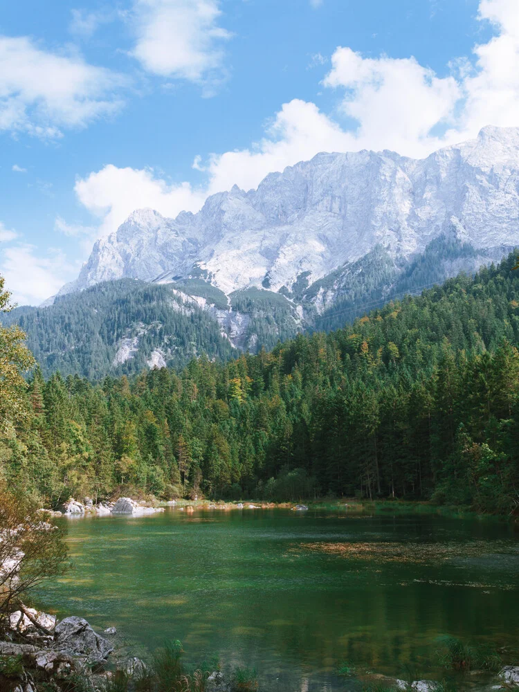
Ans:
[[[509,512],[519,495],[519,275],[510,255],[331,334],[226,364],[195,358],[93,385],[36,371],[1,471],[68,495],[432,498]]]

